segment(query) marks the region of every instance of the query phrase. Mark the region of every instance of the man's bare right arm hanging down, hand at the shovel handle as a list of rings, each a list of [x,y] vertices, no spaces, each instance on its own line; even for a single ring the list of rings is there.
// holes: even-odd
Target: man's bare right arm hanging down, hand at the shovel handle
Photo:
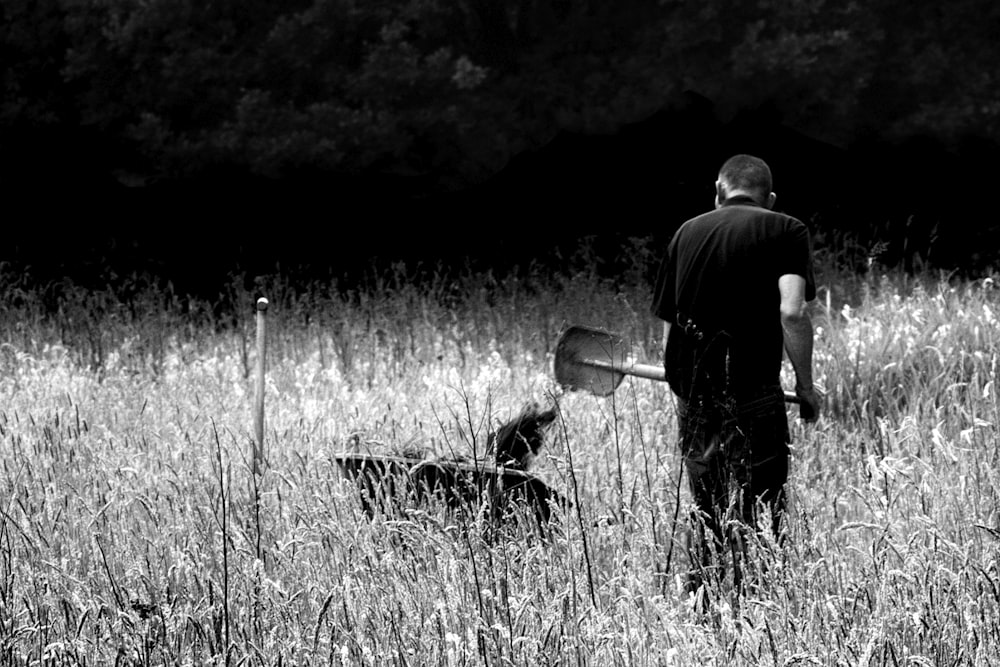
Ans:
[[[802,403],[799,415],[805,421],[819,417],[819,398],[813,389],[812,378],[812,320],[806,312],[806,279],[786,274],[778,279],[781,292],[781,329],[784,332],[785,352],[795,370],[795,393]]]

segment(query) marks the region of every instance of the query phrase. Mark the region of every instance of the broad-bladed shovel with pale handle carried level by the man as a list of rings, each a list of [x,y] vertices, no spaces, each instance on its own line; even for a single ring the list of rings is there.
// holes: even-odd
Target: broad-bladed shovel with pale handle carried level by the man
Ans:
[[[595,396],[610,396],[626,375],[666,381],[662,366],[636,361],[632,346],[616,334],[574,324],[563,331],[556,343],[556,382],[569,390],[582,389]],[[785,392],[785,401],[801,399]]]

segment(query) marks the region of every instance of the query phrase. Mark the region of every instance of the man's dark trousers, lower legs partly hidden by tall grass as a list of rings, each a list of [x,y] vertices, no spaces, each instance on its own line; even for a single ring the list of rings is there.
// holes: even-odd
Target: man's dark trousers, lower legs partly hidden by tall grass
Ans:
[[[788,479],[784,396],[780,387],[768,387],[739,402],[693,399],[679,406],[681,454],[698,514],[688,544],[688,583],[696,588],[707,572],[721,577],[728,552],[738,589],[761,509],[769,510],[770,531],[780,539]]]

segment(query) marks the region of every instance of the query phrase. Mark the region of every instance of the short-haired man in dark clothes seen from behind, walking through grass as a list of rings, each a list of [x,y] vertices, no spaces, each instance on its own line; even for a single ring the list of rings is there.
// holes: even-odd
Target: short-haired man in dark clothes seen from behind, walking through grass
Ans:
[[[800,416],[819,415],[805,310],[816,293],[809,233],[772,210],[771,188],[763,160],[727,160],[715,183],[715,210],[677,230],[656,279],[652,312],[664,321],[664,365],[702,519],[689,554],[689,590],[723,546],[732,552],[739,588],[747,537],[740,527],[756,528],[759,508],[768,508],[779,535],[789,453],[782,346],[795,371]]]

